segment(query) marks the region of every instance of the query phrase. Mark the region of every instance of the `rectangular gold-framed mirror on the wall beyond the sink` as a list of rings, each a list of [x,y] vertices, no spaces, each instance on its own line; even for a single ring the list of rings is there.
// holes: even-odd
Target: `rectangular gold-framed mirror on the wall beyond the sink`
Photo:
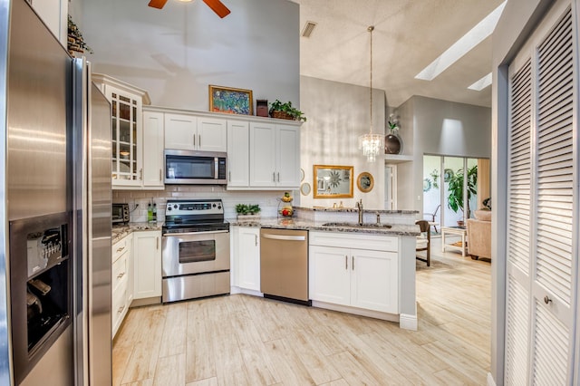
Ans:
[[[353,198],[353,167],[314,165],[314,198]]]

